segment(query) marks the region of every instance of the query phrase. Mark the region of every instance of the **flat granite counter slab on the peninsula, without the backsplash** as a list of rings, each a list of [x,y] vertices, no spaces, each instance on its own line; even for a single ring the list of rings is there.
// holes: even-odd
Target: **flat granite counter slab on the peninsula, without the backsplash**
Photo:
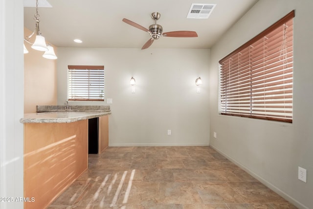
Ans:
[[[28,113],[20,119],[21,123],[71,123],[94,117],[111,115],[111,111],[83,112],[83,111],[56,111],[47,113]]]

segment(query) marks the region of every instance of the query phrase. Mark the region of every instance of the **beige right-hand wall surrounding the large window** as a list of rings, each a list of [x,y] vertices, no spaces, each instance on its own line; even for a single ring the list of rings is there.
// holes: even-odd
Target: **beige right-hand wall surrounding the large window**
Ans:
[[[210,59],[210,145],[308,209],[313,209],[312,8],[312,0],[259,0],[211,48]],[[219,115],[219,60],[293,9],[293,123]],[[298,166],[307,169],[307,183],[298,180]]]

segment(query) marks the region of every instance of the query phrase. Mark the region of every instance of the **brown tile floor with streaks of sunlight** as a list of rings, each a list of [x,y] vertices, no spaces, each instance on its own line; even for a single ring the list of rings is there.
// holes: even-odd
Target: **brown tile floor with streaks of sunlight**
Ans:
[[[48,209],[296,209],[209,146],[108,147]]]

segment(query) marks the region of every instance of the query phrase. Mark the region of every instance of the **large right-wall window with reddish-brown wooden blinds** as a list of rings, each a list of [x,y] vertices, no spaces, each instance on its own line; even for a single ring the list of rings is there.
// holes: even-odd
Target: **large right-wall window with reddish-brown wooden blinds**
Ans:
[[[220,113],[292,122],[291,11],[220,60]]]

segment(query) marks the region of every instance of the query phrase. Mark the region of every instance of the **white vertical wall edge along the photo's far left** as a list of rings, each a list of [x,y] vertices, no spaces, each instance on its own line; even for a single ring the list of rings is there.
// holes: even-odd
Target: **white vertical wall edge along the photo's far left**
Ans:
[[[21,209],[23,202],[23,1],[0,0],[0,209]]]

